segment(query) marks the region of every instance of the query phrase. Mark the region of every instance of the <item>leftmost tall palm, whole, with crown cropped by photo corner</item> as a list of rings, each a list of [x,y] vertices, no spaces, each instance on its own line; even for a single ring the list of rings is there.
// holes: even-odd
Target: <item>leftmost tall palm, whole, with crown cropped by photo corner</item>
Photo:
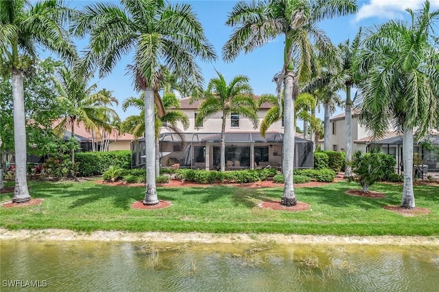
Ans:
[[[63,25],[73,16],[73,10],[62,1],[39,1],[31,5],[26,0],[0,1],[0,63],[12,73],[14,101],[14,148],[16,161],[15,189],[12,202],[31,199],[26,179],[26,129],[23,72],[36,57],[36,45],[58,53],[60,57],[75,57],[76,51]]]

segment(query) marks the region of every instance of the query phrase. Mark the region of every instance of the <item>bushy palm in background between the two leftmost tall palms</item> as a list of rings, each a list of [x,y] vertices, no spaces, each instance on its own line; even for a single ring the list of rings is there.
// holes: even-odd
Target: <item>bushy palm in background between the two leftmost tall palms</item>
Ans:
[[[66,112],[54,128],[55,133],[64,135],[70,129],[71,137],[75,136],[75,124],[84,124],[86,129],[99,133],[101,129],[112,131],[110,120],[119,119],[114,109],[108,107],[117,104],[108,90],[96,92],[97,84],[88,86],[93,73],[83,76],[67,66],[60,69],[60,77],[55,79],[60,104]],[[71,148],[71,163],[75,163],[75,149]]]

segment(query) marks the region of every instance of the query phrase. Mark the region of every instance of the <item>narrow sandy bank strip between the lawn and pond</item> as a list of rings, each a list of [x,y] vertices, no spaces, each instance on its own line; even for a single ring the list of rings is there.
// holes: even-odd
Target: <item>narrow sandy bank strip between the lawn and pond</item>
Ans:
[[[163,233],[126,231],[77,232],[65,229],[8,230],[0,228],[0,240],[54,240],[54,241],[152,241],[163,243],[276,243],[296,244],[361,244],[361,245],[427,245],[439,246],[439,237],[399,236],[333,236],[333,235],[283,235],[256,233]]]

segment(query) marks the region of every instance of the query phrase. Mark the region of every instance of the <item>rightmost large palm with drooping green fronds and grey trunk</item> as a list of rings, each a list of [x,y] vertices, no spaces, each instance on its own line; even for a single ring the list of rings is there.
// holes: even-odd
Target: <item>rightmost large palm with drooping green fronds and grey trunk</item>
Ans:
[[[433,29],[439,10],[430,12],[429,1],[414,12],[411,23],[388,21],[366,33],[361,51],[363,98],[360,119],[381,137],[393,124],[403,131],[404,183],[401,206],[414,209],[414,130],[423,137],[439,120],[439,55]]]

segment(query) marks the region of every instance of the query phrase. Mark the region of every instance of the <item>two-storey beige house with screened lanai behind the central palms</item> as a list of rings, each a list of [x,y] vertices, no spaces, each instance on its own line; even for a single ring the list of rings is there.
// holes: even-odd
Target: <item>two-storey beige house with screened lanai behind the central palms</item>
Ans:
[[[222,116],[215,114],[203,124],[195,127],[195,118],[201,101],[190,103],[190,98],[180,99],[180,111],[189,117],[189,129],[185,131],[184,142],[178,135],[169,132],[167,128],[161,131],[160,157],[162,166],[179,163],[182,168],[198,168],[205,170],[219,169],[221,147]],[[271,105],[264,104],[259,110],[261,122]],[[182,125],[178,125],[182,129]],[[226,117],[226,169],[272,168],[281,170],[283,125],[275,122],[261,137],[259,129],[247,118],[237,114]],[[133,142],[133,165],[143,165],[143,140]],[[313,168],[312,143],[309,140],[296,138],[295,168]]]

